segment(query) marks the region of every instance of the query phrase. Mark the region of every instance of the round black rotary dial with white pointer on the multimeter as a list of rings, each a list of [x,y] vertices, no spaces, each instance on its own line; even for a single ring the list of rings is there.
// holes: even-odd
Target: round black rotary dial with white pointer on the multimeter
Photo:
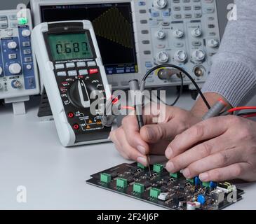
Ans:
[[[83,80],[76,80],[67,92],[69,101],[76,107],[90,107],[90,92]]]

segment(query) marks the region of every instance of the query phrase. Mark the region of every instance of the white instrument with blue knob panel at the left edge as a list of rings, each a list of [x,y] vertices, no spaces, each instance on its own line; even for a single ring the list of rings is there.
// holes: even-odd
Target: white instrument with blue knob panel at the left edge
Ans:
[[[15,114],[25,113],[24,102],[39,94],[31,31],[30,10],[24,5],[0,10],[0,99],[13,103]]]

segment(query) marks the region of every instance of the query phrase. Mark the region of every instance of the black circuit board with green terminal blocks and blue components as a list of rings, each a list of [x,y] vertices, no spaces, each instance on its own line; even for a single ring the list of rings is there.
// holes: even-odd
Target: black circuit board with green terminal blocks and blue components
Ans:
[[[86,183],[175,210],[224,209],[241,200],[244,193],[231,183],[185,179],[180,172],[170,174],[161,164],[150,169],[151,176],[147,167],[125,163],[91,175]]]

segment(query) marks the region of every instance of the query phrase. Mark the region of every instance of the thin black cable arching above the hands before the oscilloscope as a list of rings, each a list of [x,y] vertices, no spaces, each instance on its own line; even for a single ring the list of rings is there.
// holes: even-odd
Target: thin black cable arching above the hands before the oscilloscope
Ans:
[[[150,69],[149,71],[147,71],[147,73],[144,75],[143,77],[143,81],[146,81],[147,77],[154,71],[156,71],[157,69],[161,69],[161,68],[165,68],[165,67],[170,67],[173,69],[177,69],[179,71],[181,71],[182,73],[184,73],[190,80],[191,82],[194,84],[194,86],[196,87],[196,90],[198,91],[198,93],[200,94],[200,96],[203,99],[203,102],[206,104],[206,106],[208,107],[208,109],[210,109],[210,104],[208,103],[208,101],[206,100],[206,97],[203,96],[203,92],[200,90],[200,88],[198,87],[196,81],[189,75],[189,73],[187,73],[187,71],[185,71],[184,69],[182,69],[180,66],[176,66],[174,64],[161,64],[158,66],[155,66],[154,68]]]

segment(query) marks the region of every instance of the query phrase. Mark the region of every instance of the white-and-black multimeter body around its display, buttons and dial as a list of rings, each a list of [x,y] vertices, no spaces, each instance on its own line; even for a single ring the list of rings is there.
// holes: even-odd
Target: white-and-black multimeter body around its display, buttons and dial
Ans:
[[[80,26],[80,32],[87,32],[91,40],[91,48],[94,48],[93,59],[67,59],[66,61],[53,61],[50,49],[47,45],[46,36],[50,32],[50,27],[55,27],[65,31],[70,29],[72,32],[72,26]],[[57,28],[56,28],[57,27]],[[68,33],[68,31],[67,31]],[[46,87],[50,107],[53,112],[53,118],[58,131],[58,136],[63,146],[77,146],[83,144],[95,144],[100,142],[109,141],[109,132],[111,127],[104,127],[102,125],[101,116],[92,116],[88,109],[88,105],[83,108],[79,103],[76,104],[76,99],[79,98],[78,94],[74,92],[81,92],[81,87],[88,90],[94,83],[97,83],[97,87],[105,92],[105,97],[110,99],[111,91],[107,82],[107,76],[105,73],[104,66],[102,65],[102,59],[100,56],[100,50],[97,45],[93,26],[90,21],[65,21],[65,22],[45,22],[37,25],[32,31],[32,45],[36,52],[36,59],[39,64],[39,70],[41,73],[41,79]],[[51,58],[51,59],[50,59]],[[78,62],[85,62],[86,66],[79,69]],[[67,64],[74,63],[75,67],[72,71],[77,72],[77,76],[69,76],[70,69]],[[95,63],[94,66],[91,64]],[[57,66],[65,66],[65,68],[56,69]],[[89,66],[90,64],[90,66]],[[98,73],[92,73],[91,71],[97,71]],[[81,71],[88,71],[87,75],[79,75]],[[66,76],[58,76],[58,72],[66,72]],[[74,75],[74,74],[73,74]],[[81,85],[83,83],[84,85]],[[79,86],[79,91],[72,93],[74,101],[70,98],[70,91]],[[72,86],[75,86],[72,88]],[[94,86],[93,86],[94,88]],[[79,98],[80,99],[80,98]],[[84,97],[83,97],[84,99]],[[79,106],[78,106],[79,104]],[[73,117],[72,117],[73,116]],[[79,127],[79,129],[76,129]]]

